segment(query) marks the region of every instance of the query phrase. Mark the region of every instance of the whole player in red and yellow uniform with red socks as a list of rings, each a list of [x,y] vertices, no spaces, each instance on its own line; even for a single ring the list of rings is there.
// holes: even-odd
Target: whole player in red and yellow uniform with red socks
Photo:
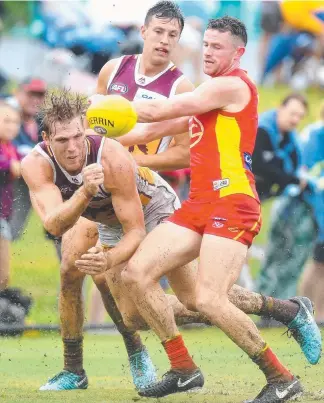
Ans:
[[[162,381],[141,391],[142,396],[161,397],[203,385],[203,375],[189,355],[158,285],[163,274],[198,256],[191,304],[264,373],[267,385],[254,402],[285,401],[302,392],[299,380],[279,362],[252,320],[228,297],[261,225],[251,168],[258,93],[240,68],[246,43],[246,28],[240,20],[211,20],[204,36],[204,71],[211,79],[191,93],[133,103],[139,122],[174,119],[163,124],[178,133],[189,123],[191,137],[189,199],[168,223],[145,238],[122,274],[171,364]]]

